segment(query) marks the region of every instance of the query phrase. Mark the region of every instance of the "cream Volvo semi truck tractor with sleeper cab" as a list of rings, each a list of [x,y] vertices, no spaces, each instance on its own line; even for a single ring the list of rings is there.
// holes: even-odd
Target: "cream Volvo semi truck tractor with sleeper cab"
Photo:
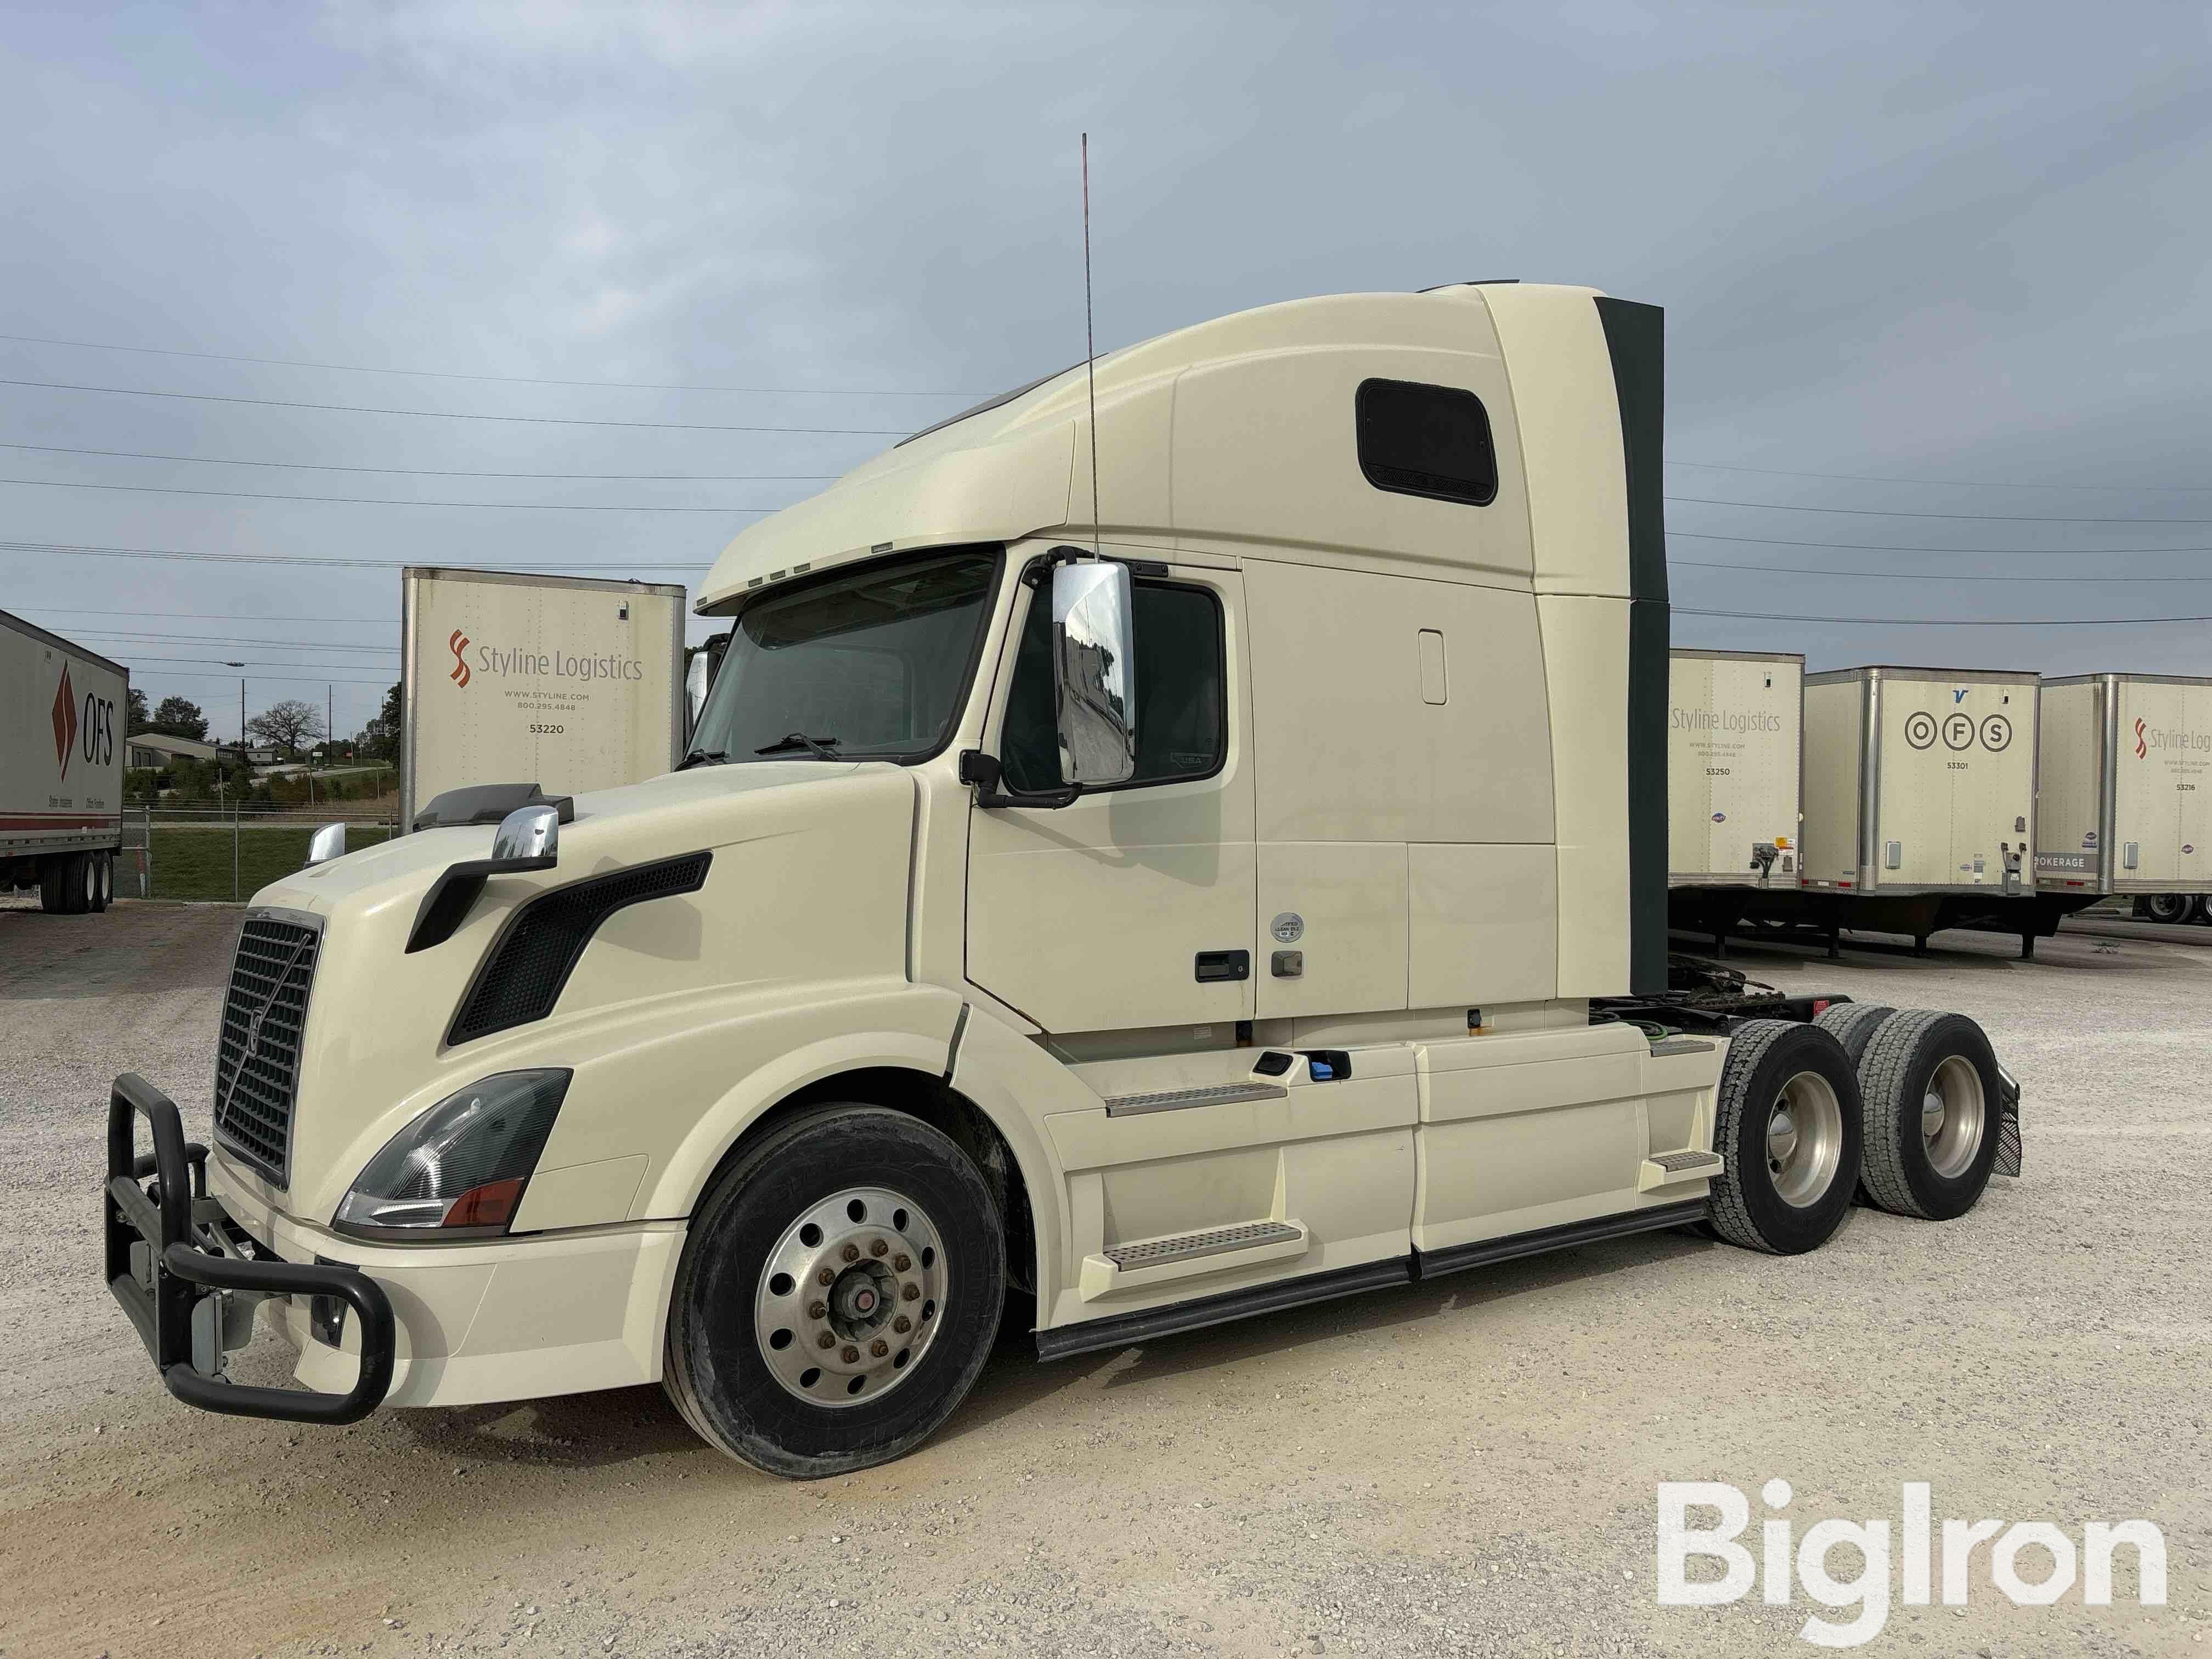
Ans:
[[[168,1389],[664,1383],[827,1475],[1009,1296],[1057,1358],[1966,1212],[2017,1172],[1971,1020],[1670,987],[1659,458],[1657,307],[1455,285],[1115,352],[748,529],[679,770],[263,889],[206,1150],[115,1082]],[[303,1389],[226,1374],[254,1303]]]

